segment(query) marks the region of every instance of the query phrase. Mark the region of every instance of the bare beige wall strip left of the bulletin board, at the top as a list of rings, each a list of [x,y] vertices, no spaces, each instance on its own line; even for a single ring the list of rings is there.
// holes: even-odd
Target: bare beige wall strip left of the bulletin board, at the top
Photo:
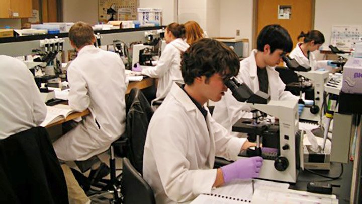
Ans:
[[[97,0],[63,0],[63,21],[84,21],[91,25],[98,23]]]

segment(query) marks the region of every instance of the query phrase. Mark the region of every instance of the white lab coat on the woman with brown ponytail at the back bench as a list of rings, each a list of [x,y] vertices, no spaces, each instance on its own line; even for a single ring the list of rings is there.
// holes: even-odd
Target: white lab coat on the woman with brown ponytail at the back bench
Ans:
[[[142,70],[144,75],[159,78],[156,99],[153,101],[164,99],[171,89],[172,82],[184,83],[180,69],[181,53],[185,52],[187,48],[189,48],[189,44],[183,39],[177,38],[166,45],[156,66]]]

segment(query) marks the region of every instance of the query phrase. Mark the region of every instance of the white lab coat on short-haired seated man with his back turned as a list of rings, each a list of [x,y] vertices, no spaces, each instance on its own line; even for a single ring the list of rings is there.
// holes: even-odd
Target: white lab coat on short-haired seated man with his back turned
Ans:
[[[106,151],[125,130],[125,67],[116,53],[87,45],[69,65],[68,81],[69,106],[91,114],[58,139],[54,150],[61,160],[81,161]]]

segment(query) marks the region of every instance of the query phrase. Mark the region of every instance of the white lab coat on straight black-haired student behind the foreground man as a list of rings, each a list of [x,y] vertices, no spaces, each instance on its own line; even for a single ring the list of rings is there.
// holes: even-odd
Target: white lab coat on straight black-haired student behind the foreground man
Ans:
[[[244,82],[254,93],[259,91],[259,79],[257,76],[257,66],[255,54],[257,50],[251,51],[251,55],[240,62],[240,70],[236,76],[237,80]],[[284,91],[285,84],[279,77],[279,73],[275,71],[275,67],[266,67],[269,86],[268,94],[271,100],[297,100],[298,97],[291,94],[289,91]],[[231,131],[232,125],[240,118],[250,118],[249,112],[251,107],[247,103],[238,102],[230,90],[225,93],[225,96],[216,102],[213,118],[216,122],[224,126],[228,131]]]

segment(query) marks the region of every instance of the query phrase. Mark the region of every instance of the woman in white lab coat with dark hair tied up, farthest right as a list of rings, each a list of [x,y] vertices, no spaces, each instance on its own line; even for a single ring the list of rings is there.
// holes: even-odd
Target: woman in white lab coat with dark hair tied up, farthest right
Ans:
[[[331,60],[317,60],[314,51],[324,43],[324,35],[318,30],[311,30],[308,33],[303,31],[298,36],[298,40],[303,38],[303,42],[297,43],[296,47],[289,54],[289,57],[295,59],[300,65],[305,67],[311,67],[312,70],[318,69],[331,69],[336,67],[331,64]],[[286,66],[286,65],[285,65]]]

